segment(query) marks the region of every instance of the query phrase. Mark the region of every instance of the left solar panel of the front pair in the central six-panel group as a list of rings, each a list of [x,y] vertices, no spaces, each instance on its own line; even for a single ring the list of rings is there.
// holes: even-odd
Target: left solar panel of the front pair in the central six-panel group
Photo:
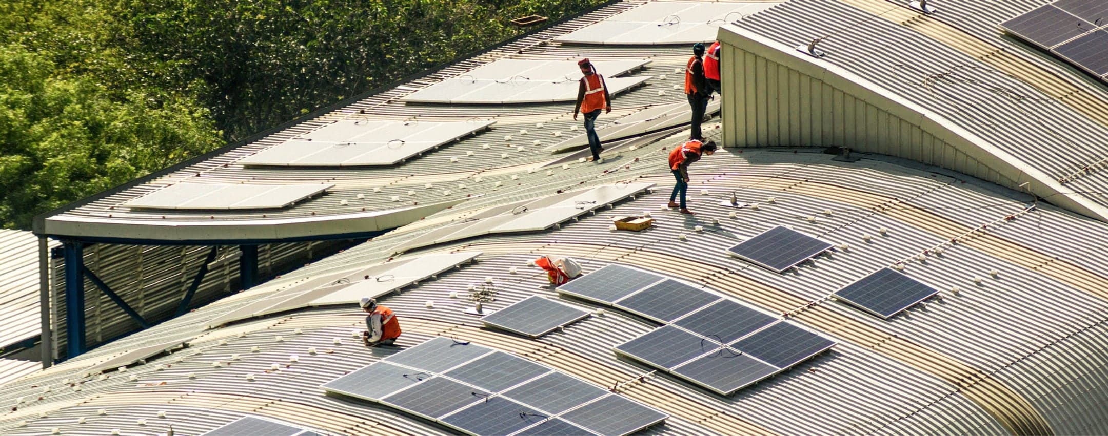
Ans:
[[[673,325],[616,345],[615,351],[648,364],[664,368],[680,365],[705,354],[720,344],[705,340]]]

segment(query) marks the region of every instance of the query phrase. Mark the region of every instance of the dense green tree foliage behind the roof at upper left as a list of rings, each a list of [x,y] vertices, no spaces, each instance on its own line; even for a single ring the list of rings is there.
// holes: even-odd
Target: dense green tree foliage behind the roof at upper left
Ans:
[[[598,2],[0,1],[0,225]]]

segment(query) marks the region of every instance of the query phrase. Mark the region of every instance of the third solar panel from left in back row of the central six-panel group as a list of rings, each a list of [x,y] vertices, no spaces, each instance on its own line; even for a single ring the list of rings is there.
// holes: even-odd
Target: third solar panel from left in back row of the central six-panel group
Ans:
[[[774,321],[774,316],[724,300],[694,312],[675,324],[726,344]]]

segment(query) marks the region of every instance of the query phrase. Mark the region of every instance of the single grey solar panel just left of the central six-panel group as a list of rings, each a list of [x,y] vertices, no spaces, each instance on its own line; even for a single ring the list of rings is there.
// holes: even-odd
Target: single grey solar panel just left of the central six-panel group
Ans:
[[[588,316],[588,312],[581,309],[532,295],[482,318],[481,322],[510,332],[538,338],[585,316]]]

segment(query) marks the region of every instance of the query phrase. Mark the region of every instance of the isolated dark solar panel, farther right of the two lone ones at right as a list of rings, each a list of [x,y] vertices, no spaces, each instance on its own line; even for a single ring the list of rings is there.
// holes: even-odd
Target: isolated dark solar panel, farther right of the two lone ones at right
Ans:
[[[911,277],[882,268],[845,286],[834,295],[888,320],[936,293],[938,290]]]

